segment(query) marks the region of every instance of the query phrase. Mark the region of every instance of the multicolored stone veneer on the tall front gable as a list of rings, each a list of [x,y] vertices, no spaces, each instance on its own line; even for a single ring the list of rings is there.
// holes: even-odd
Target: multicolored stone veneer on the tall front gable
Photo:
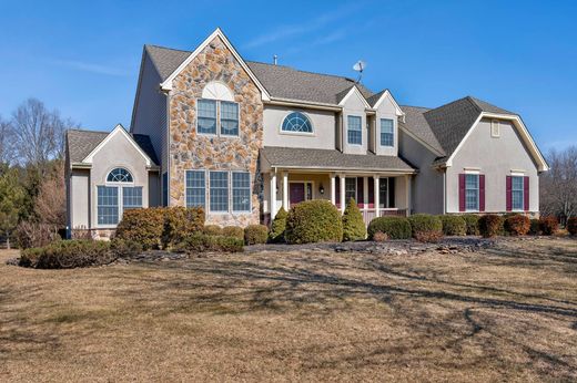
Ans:
[[[220,81],[239,103],[239,137],[196,133],[196,99],[211,81]],[[261,91],[240,62],[216,37],[174,79],[170,92],[170,205],[185,205],[185,170],[249,170],[252,177],[252,213],[206,214],[206,224],[246,226],[259,224],[262,177],[259,151],[263,146]],[[232,194],[232,185],[231,187]],[[206,187],[206,204],[209,188]],[[232,205],[232,201],[230,203]],[[230,206],[232,207],[232,206]]]

